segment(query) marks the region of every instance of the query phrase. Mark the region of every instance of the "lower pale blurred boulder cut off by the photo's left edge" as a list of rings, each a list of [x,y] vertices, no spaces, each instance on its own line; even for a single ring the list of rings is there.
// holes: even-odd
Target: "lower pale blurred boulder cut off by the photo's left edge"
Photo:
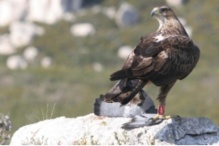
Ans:
[[[11,44],[9,35],[5,34],[0,36],[0,54],[1,55],[10,55],[13,54],[16,49]]]

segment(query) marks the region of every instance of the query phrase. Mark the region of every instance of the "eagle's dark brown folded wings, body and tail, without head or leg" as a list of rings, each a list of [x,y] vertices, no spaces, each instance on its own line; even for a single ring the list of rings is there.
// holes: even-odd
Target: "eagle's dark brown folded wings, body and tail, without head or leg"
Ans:
[[[145,37],[129,55],[123,68],[111,75],[120,80],[106,95],[107,100],[128,103],[144,85],[172,84],[185,78],[199,59],[199,49],[187,36],[169,36],[159,42]]]

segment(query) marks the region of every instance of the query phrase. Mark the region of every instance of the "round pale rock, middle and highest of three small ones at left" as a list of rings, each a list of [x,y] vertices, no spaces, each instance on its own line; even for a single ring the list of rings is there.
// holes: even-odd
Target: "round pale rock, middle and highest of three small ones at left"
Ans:
[[[38,49],[35,47],[28,47],[24,50],[23,56],[28,61],[33,61],[38,55]]]

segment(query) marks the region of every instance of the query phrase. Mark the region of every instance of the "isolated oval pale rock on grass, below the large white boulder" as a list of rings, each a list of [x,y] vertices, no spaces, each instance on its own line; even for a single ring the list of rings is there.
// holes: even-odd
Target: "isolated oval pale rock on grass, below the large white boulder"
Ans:
[[[78,23],[71,27],[71,33],[77,37],[86,37],[95,33],[95,28],[90,23]]]

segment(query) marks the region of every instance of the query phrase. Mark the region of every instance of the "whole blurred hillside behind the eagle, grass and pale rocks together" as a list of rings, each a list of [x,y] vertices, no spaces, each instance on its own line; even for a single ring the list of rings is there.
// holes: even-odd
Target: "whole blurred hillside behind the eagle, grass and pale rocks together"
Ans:
[[[155,6],[172,6],[201,49],[195,70],[167,97],[167,114],[219,124],[218,0],[0,0],[0,113],[12,132],[59,116],[93,112],[141,36]],[[156,102],[158,88],[146,88]]]

